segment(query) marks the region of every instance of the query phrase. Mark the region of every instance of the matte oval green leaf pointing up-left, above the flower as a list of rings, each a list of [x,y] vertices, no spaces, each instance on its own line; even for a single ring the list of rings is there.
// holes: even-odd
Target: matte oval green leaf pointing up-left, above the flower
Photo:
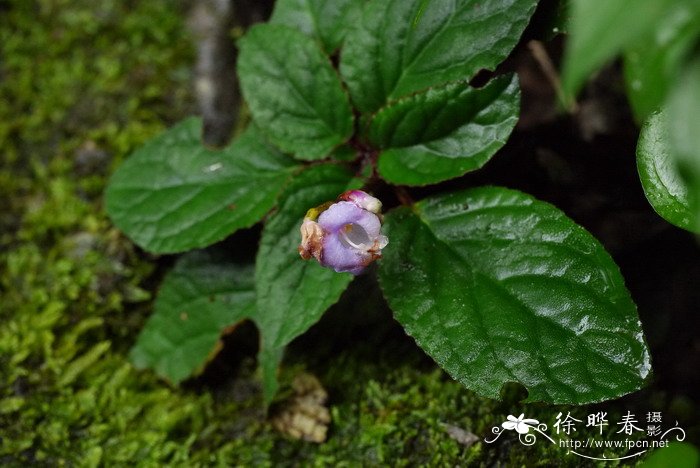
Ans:
[[[279,24],[240,40],[238,75],[253,118],[270,141],[300,159],[321,159],[353,131],[348,96],[316,42]]]

